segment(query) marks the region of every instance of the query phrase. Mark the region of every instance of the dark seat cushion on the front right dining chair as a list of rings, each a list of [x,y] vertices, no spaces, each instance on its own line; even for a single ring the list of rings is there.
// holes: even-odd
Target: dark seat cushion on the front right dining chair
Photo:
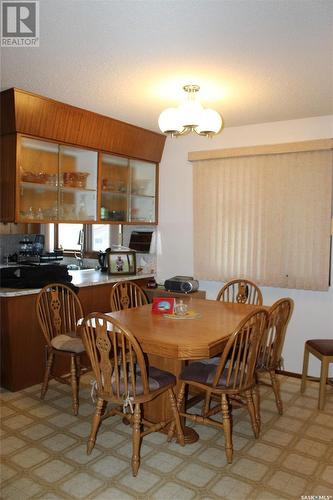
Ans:
[[[189,380],[199,382],[200,384],[211,385],[215,376],[216,368],[220,362],[220,358],[201,359],[187,365],[180,374],[181,380]],[[226,369],[217,384],[218,388],[226,387]],[[233,380],[229,381],[228,386],[233,385]]]

